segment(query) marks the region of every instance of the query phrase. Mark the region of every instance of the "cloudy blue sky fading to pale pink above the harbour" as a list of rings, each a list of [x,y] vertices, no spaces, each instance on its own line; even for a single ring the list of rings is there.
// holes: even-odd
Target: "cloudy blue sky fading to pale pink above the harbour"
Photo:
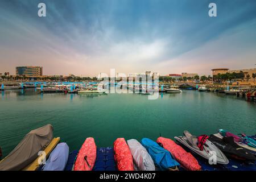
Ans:
[[[211,2],[217,17],[208,15]],[[254,0],[0,1],[0,73],[38,65],[44,75],[210,75],[255,68],[255,50]]]

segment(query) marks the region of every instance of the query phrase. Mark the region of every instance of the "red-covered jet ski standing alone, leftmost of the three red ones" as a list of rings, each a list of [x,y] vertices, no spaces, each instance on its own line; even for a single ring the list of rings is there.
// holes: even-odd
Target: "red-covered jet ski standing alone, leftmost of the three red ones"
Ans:
[[[96,148],[94,138],[86,138],[77,154],[74,171],[92,171],[96,160]]]

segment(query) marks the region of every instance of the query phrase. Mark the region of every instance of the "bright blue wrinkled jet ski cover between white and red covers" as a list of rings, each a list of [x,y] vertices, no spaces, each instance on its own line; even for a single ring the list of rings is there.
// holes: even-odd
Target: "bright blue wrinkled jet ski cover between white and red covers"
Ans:
[[[165,150],[163,147],[160,147],[158,143],[152,141],[151,139],[143,138],[141,140],[141,144],[147,149],[148,154],[150,154],[159,170],[163,171],[170,167],[180,166],[180,164],[176,162],[174,158],[172,158],[169,151]]]

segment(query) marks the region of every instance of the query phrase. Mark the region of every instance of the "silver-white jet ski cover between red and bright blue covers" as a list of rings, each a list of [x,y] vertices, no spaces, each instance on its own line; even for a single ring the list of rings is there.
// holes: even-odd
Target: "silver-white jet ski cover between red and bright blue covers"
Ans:
[[[127,140],[127,144],[130,148],[131,155],[133,155],[133,160],[136,166],[141,171],[155,171],[155,164],[151,156],[148,154],[146,148],[142,146],[135,139]]]

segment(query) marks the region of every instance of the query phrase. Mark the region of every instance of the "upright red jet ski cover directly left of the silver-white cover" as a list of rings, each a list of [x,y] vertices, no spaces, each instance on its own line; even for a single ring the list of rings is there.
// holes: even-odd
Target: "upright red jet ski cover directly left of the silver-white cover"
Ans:
[[[115,162],[119,171],[134,171],[133,156],[124,138],[117,138],[114,142]]]

